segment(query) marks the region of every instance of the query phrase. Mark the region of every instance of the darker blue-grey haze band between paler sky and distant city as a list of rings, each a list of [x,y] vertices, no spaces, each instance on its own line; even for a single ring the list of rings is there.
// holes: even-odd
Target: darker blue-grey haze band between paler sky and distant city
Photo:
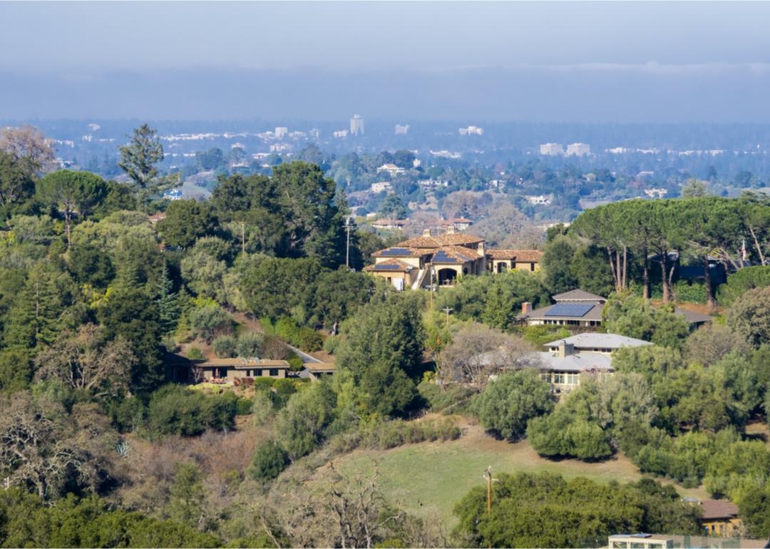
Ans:
[[[0,118],[770,122],[770,65],[0,72]]]

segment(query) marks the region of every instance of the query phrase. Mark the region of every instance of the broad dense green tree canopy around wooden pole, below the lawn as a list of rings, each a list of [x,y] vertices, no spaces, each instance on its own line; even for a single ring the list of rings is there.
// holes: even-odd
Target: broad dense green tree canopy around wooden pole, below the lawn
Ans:
[[[683,534],[699,531],[695,508],[659,485],[654,490],[583,477],[565,481],[547,473],[497,476],[491,514],[486,487],[470,490],[454,507],[455,534],[467,547],[594,547],[615,532],[654,526]],[[665,508],[665,517],[651,512],[656,508]]]

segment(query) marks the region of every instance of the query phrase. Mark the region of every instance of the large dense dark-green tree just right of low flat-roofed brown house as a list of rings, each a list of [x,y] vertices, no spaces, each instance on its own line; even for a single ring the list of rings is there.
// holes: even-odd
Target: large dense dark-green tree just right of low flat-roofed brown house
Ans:
[[[417,394],[424,328],[416,296],[392,294],[349,321],[336,364],[350,370],[363,403],[383,415],[403,413]]]

